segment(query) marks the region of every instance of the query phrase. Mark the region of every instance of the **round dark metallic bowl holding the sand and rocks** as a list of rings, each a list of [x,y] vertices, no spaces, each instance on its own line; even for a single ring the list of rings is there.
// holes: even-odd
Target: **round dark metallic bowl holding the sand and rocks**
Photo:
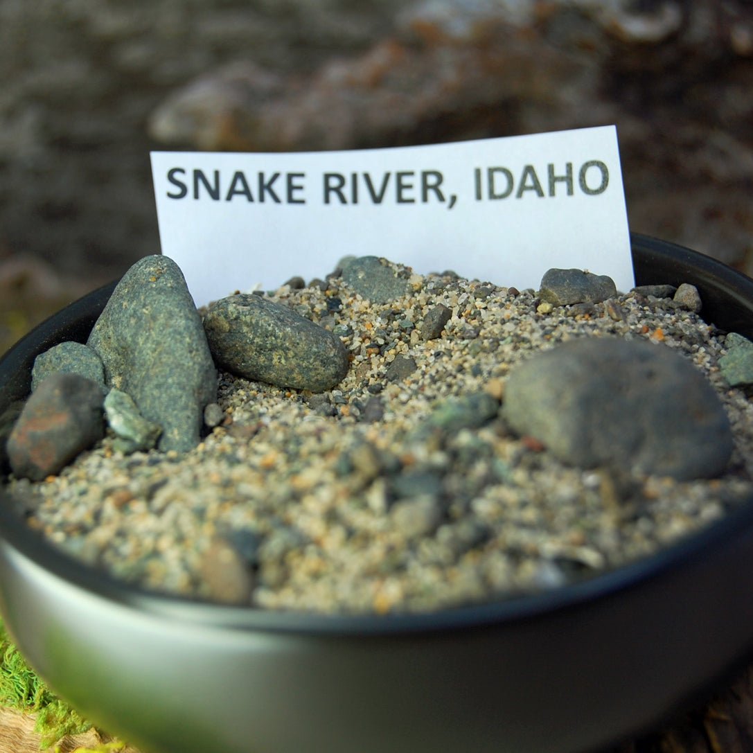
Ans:
[[[694,282],[709,319],[750,332],[751,281],[653,239],[636,236],[633,254],[639,284]],[[0,410],[28,390],[20,364],[85,340],[98,316],[86,308],[0,361]],[[750,514],[681,567],[617,590],[596,579],[593,598],[361,632],[337,618],[333,630],[305,619],[279,630],[274,616],[244,630],[150,613],[54,575],[40,564],[48,552],[7,514],[0,524],[0,607],[17,644],[59,694],[145,753],[574,753],[656,723],[753,642]]]

